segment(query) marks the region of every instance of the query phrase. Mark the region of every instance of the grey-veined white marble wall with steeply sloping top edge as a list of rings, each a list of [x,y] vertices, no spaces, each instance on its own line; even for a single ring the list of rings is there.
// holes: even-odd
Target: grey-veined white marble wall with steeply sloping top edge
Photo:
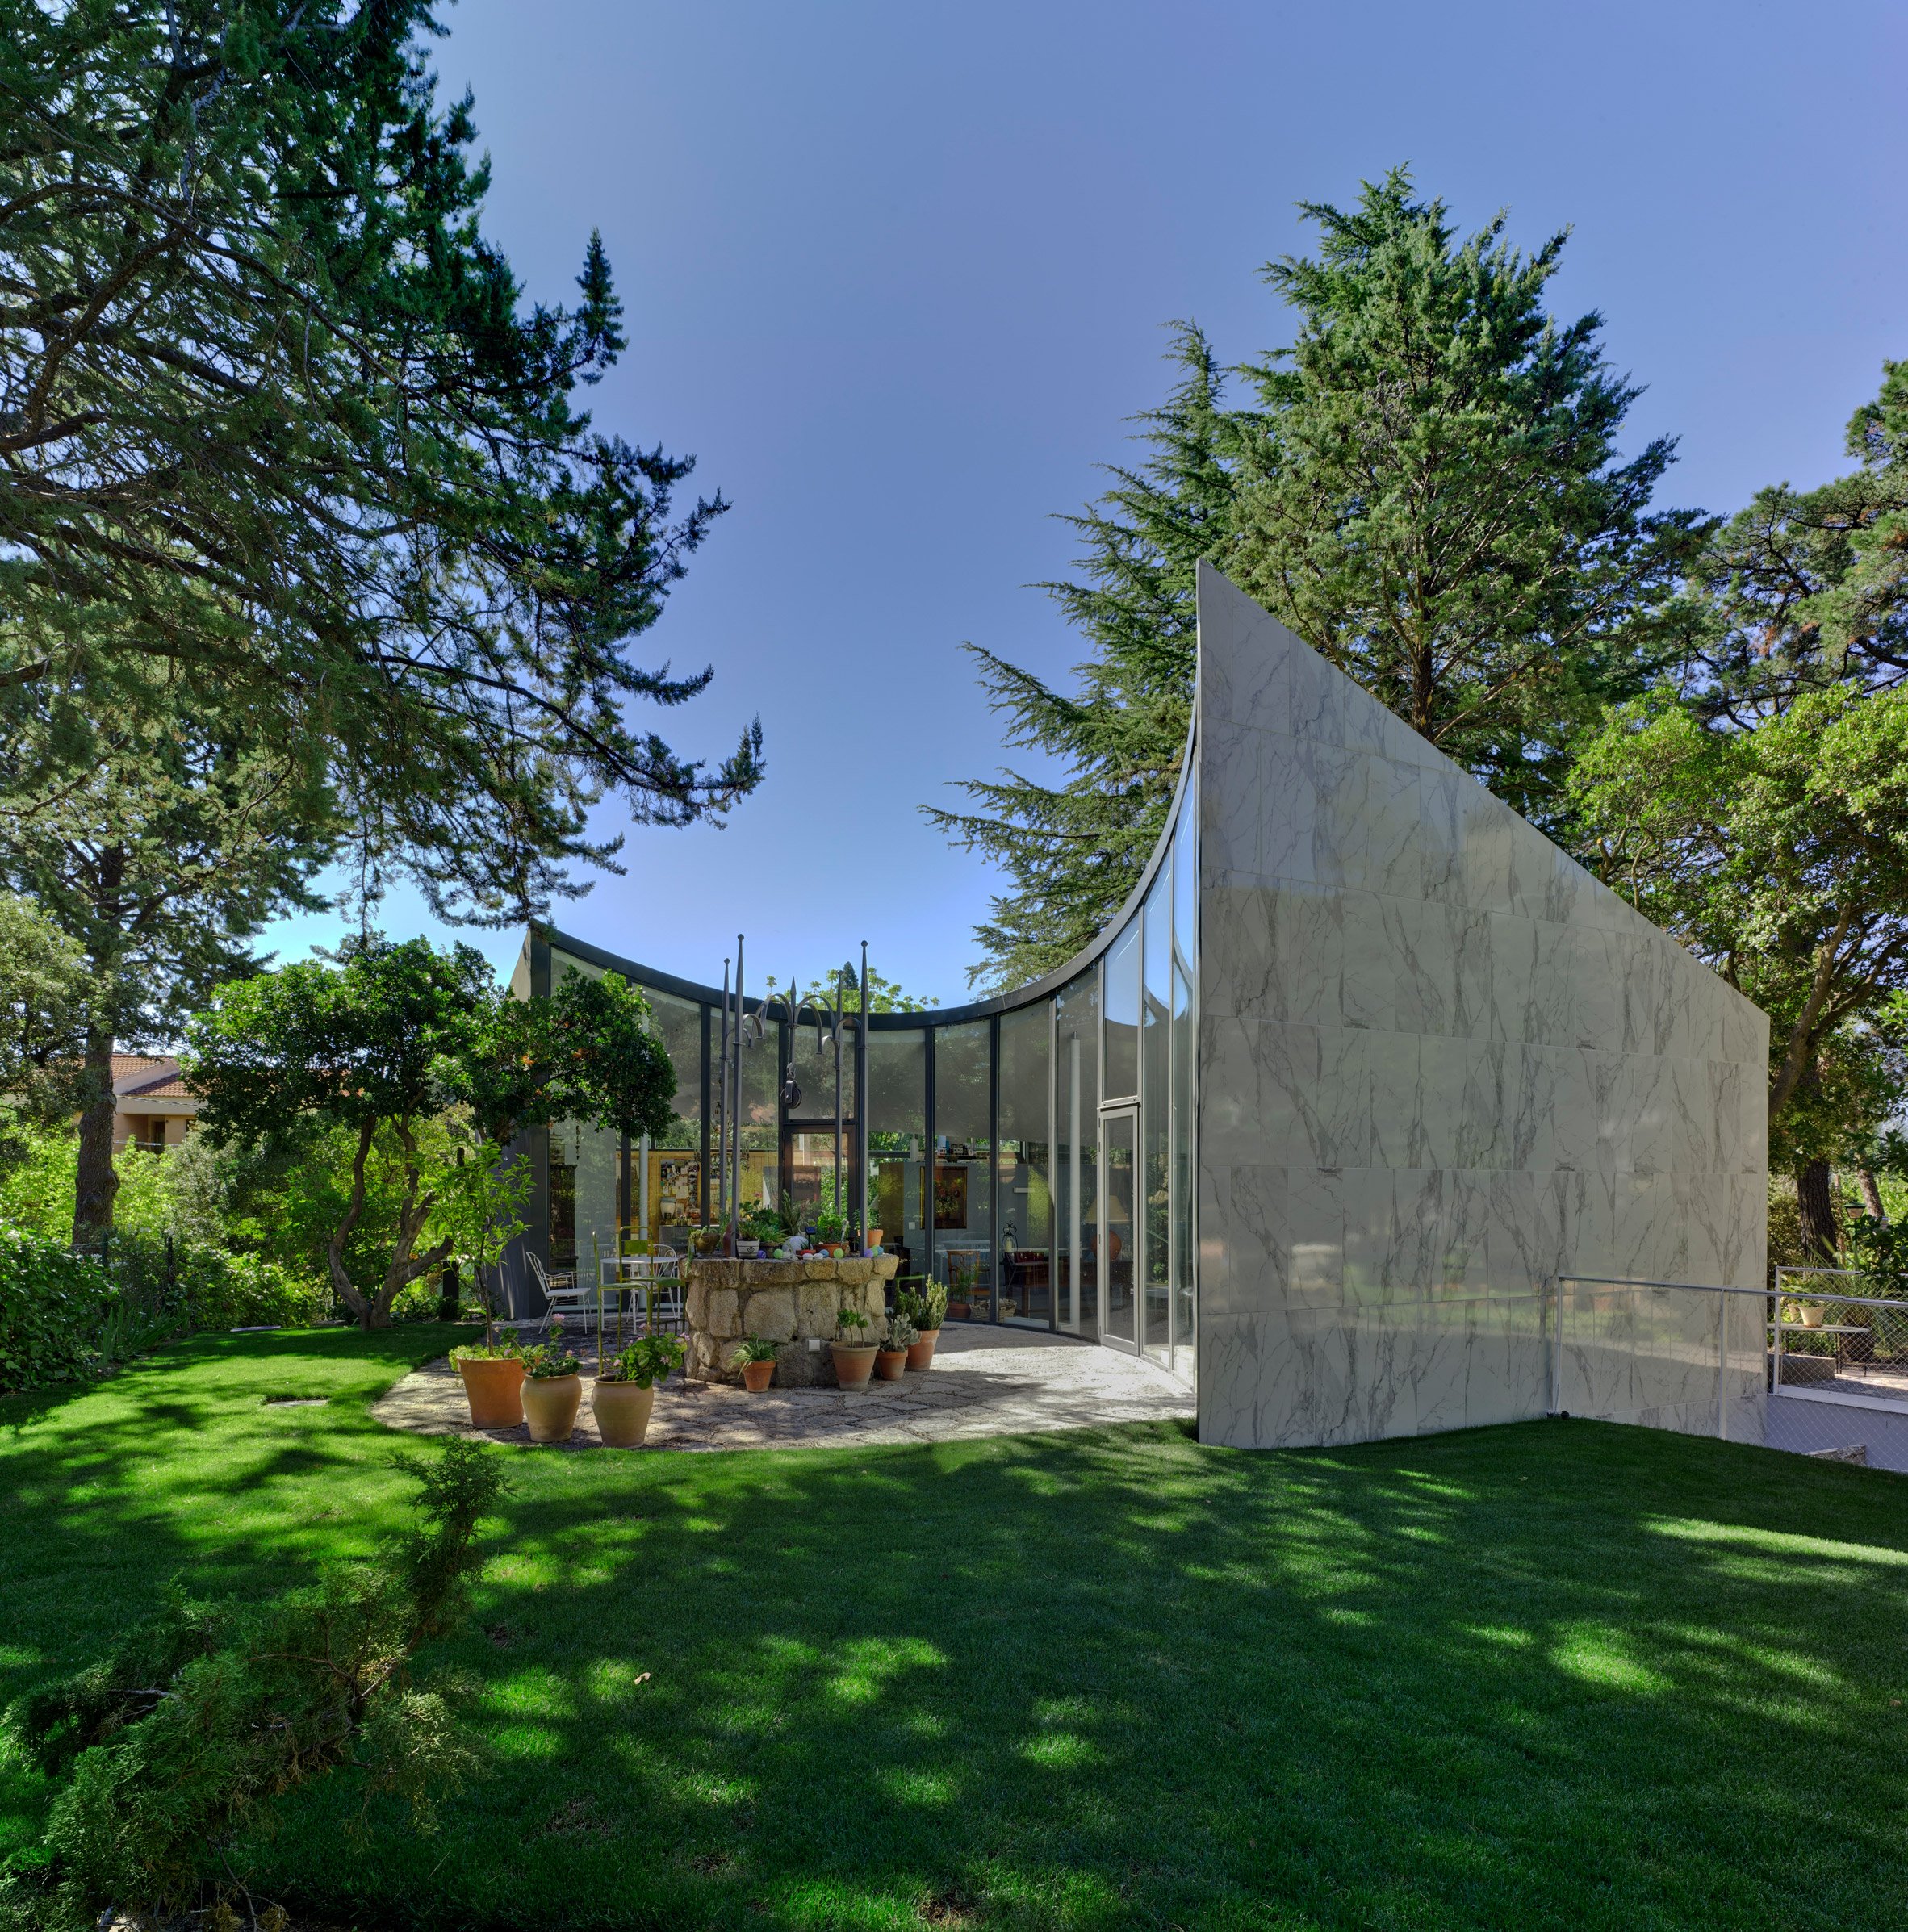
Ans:
[[[1202,1439],[1543,1414],[1550,1277],[1759,1287],[1765,1016],[1206,566],[1199,661]],[[1713,1428],[1701,1300],[1583,1410]]]

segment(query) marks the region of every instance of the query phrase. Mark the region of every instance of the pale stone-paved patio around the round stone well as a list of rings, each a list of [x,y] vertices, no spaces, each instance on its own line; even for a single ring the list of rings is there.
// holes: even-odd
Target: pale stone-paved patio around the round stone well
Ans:
[[[464,1385],[447,1360],[406,1376],[371,1414],[390,1428],[423,1435],[487,1434],[493,1441],[530,1441],[524,1428],[474,1430]],[[872,1447],[1191,1414],[1193,1395],[1183,1383],[1115,1349],[1038,1329],[949,1325],[941,1329],[934,1368],[901,1381],[870,1381],[864,1395],[841,1389],[750,1395],[723,1383],[671,1378],[655,1391],[648,1447]],[[570,1447],[599,1447],[588,1381]]]

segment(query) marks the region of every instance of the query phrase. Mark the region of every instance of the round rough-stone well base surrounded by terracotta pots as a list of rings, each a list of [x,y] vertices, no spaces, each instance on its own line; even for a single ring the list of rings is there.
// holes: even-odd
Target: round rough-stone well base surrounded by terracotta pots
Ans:
[[[841,1310],[860,1308],[868,1341],[882,1331],[887,1283],[899,1254],[841,1262],[690,1262],[686,1374],[702,1381],[740,1381],[735,1345],[744,1335],[781,1343],[775,1385],[833,1387],[829,1343],[841,1333]],[[814,1347],[810,1347],[814,1343]]]

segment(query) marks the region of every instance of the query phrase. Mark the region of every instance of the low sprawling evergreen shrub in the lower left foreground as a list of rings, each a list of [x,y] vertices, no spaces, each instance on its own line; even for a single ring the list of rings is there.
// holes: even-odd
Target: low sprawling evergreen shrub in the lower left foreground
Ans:
[[[174,1584],[157,1623],[25,1700],[27,1747],[64,1785],[41,1843],[12,1861],[0,1922],[180,1911],[275,1797],[336,1766],[365,1774],[365,1806],[392,1795],[419,1828],[435,1824],[431,1793],[460,1783],[474,1745],[456,1719],[464,1685],[414,1681],[410,1663],[462,1621],[483,1563],[477,1520],[505,1478],[462,1439],[398,1466],[421,1484],[419,1520],[381,1561],[255,1607]]]

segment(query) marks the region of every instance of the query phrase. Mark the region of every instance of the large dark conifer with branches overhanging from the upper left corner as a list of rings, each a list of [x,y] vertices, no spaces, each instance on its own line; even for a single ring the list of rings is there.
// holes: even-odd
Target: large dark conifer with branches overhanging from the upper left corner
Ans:
[[[630,661],[727,506],[576,408],[622,350],[483,240],[431,0],[0,0],[0,690],[99,709],[153,667],[323,748],[373,875],[506,922],[611,864],[586,813],[719,813],[628,719]],[[0,777],[0,784],[4,784]]]

